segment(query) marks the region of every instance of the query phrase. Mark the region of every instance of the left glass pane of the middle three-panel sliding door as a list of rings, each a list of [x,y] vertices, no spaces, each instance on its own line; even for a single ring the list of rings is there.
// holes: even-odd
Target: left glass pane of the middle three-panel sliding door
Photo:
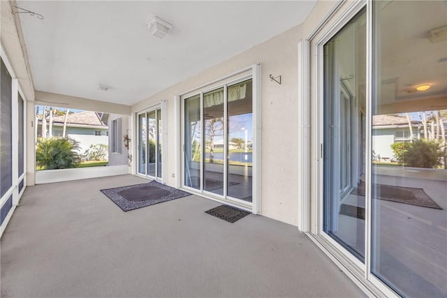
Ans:
[[[200,95],[184,100],[184,185],[200,189]]]

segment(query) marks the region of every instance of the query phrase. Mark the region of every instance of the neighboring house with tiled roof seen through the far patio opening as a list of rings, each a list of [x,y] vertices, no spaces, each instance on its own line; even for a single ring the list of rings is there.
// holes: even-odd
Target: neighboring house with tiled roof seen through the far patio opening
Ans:
[[[108,125],[105,117],[108,114],[83,111],[68,114],[66,135],[79,142],[80,152],[83,153],[94,144],[108,145]],[[52,136],[61,137],[64,130],[65,115],[54,117],[52,122]],[[48,121],[48,119],[47,119]],[[47,135],[49,134],[47,122]],[[37,136],[41,137],[42,124],[39,121]]]

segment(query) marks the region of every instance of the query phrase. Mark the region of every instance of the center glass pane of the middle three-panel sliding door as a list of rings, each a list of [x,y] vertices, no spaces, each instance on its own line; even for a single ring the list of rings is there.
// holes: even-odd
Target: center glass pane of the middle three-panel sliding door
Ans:
[[[203,190],[223,195],[223,88],[203,94]]]

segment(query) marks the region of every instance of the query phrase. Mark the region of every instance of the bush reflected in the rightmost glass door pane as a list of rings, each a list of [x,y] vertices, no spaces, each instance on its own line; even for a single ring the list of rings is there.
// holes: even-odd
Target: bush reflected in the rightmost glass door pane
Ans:
[[[415,140],[411,143],[391,145],[397,163],[409,167],[433,168],[441,165],[442,151],[439,143],[427,140]]]

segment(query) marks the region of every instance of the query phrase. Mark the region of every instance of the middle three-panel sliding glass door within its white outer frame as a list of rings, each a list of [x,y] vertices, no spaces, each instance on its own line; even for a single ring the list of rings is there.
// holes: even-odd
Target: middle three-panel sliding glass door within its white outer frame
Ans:
[[[252,80],[185,98],[184,186],[252,202]]]

